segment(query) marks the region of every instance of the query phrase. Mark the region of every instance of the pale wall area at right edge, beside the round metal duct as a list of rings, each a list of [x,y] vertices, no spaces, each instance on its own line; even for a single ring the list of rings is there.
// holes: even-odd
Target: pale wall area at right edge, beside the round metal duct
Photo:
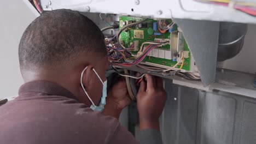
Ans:
[[[245,44],[237,56],[224,62],[224,68],[256,73],[256,25],[249,25]]]

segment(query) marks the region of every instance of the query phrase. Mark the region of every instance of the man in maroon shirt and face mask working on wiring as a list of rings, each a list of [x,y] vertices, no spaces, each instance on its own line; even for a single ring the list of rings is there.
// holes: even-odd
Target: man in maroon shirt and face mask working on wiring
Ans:
[[[100,29],[76,11],[34,20],[19,45],[25,84],[0,107],[1,143],[161,143],[162,80],[147,75],[140,84],[136,141],[118,122],[131,102],[125,82],[117,81],[106,98],[106,54]]]

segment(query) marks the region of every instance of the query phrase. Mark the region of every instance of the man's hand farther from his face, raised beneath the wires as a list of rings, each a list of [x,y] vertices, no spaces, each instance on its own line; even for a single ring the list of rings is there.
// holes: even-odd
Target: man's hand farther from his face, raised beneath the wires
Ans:
[[[139,128],[159,130],[159,117],[165,106],[166,92],[160,77],[145,76],[137,94]]]

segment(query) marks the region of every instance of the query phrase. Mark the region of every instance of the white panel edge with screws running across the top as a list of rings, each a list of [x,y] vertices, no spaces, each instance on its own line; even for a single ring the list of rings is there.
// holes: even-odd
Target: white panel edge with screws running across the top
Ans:
[[[253,0],[255,1],[255,0]],[[256,23],[241,11],[194,0],[41,0],[44,10],[72,9],[91,13],[125,14],[166,19],[194,19]]]

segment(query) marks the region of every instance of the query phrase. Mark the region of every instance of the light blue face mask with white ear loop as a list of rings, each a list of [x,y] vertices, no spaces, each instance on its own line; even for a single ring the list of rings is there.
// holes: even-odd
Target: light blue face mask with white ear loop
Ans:
[[[84,89],[84,92],[85,94],[87,95],[88,99],[91,101],[91,109],[94,110],[94,111],[100,111],[102,112],[103,109],[104,109],[104,105],[106,105],[106,98],[107,98],[107,80],[106,81],[102,81],[101,80],[101,77],[97,74],[97,72],[94,70],[94,73],[97,75],[98,79],[100,79],[102,85],[103,85],[103,89],[102,89],[102,97],[101,97],[101,101],[100,101],[100,104],[98,104],[98,106],[96,106],[94,104],[94,101],[91,100],[91,98],[89,97],[88,93],[85,91],[85,88],[84,88],[84,85],[83,85],[83,75],[84,75],[84,71],[87,69],[87,67],[82,71],[81,73],[81,79],[80,79],[80,83],[81,83],[81,86],[82,88]]]

